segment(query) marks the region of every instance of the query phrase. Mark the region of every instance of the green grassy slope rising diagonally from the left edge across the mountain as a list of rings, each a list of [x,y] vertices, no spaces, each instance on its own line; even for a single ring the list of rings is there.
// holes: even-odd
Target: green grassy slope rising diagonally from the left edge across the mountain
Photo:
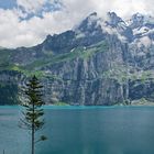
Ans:
[[[41,68],[45,66],[74,61],[77,57],[88,59],[96,53],[106,51],[108,51],[108,45],[105,41],[102,41],[88,47],[74,48],[72,52],[65,54],[53,55],[53,53],[48,54],[46,52],[44,53],[44,57],[38,58],[29,65],[19,66],[18,64],[11,62],[14,51],[0,50],[0,70],[15,70],[24,74],[25,76],[32,76],[35,74],[36,76],[42,77],[45,74],[41,70]]]

